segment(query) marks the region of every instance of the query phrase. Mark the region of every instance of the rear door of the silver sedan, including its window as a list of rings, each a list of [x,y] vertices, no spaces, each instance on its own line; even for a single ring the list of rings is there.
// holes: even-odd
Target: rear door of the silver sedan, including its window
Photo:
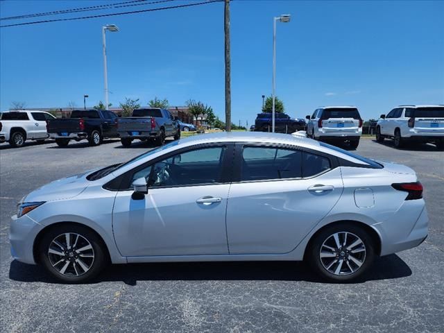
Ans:
[[[336,160],[284,146],[236,146],[227,207],[230,254],[289,253],[343,191]]]

